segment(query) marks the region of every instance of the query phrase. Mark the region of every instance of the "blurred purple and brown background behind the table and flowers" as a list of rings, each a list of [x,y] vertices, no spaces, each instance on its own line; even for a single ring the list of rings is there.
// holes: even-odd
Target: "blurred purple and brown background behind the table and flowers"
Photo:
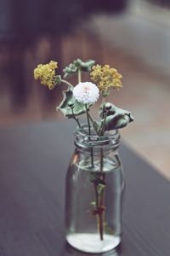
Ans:
[[[122,73],[109,99],[135,118],[122,137],[170,178],[170,0],[0,0],[0,125],[63,119],[63,88],[33,69],[55,60],[61,73],[77,57]]]

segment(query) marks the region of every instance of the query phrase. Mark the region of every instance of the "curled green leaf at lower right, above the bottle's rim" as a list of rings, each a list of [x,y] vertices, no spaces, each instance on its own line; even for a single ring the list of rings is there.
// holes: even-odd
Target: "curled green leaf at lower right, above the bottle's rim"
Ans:
[[[104,121],[105,116],[105,103],[99,108],[99,114]],[[111,131],[115,129],[121,129],[127,126],[128,123],[133,121],[132,114],[122,108],[117,108],[115,105],[111,104],[111,109],[107,112],[107,117],[105,119],[105,131]]]

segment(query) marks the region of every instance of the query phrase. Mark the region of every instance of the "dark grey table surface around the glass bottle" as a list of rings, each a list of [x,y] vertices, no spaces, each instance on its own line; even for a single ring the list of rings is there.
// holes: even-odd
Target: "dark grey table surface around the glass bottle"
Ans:
[[[0,128],[0,256],[85,255],[66,244],[64,231],[74,127],[70,121]],[[168,256],[169,182],[126,145],[120,154],[127,183],[122,244],[100,255]]]

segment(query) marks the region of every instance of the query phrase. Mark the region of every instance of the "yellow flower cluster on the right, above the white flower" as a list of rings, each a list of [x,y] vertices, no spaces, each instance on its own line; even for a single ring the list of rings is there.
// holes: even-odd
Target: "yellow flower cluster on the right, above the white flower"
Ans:
[[[90,73],[91,79],[98,84],[99,91],[103,96],[108,96],[111,87],[119,89],[122,87],[122,74],[118,73],[110,65],[95,65]]]

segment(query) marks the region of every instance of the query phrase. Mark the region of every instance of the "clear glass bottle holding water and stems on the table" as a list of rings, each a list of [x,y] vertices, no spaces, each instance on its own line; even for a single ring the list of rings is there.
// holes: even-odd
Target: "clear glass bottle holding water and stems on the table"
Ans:
[[[66,241],[82,252],[105,253],[122,235],[120,135],[111,131],[89,137],[87,125],[82,128],[75,132],[76,150],[66,175]]]

